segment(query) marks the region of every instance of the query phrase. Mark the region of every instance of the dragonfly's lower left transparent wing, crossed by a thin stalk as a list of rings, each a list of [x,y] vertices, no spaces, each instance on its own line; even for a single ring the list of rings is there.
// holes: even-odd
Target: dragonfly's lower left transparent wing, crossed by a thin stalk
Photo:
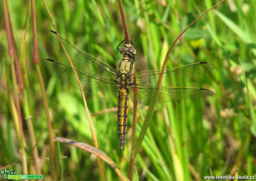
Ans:
[[[50,69],[50,71],[57,74],[58,77],[70,83],[73,87],[80,89],[72,67],[53,61],[52,59],[44,59],[42,60],[42,64]],[[82,71],[76,71],[76,73],[80,79],[82,90],[84,92],[101,99],[111,99],[116,97],[118,89],[114,80]]]

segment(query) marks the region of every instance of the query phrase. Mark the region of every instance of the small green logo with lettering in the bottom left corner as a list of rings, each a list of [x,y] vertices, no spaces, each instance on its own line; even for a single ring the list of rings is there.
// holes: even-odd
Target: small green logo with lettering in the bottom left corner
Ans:
[[[4,169],[0,171],[1,176],[4,179],[9,179],[9,180],[42,180],[43,179],[43,175],[29,175],[29,174],[16,174],[16,172],[14,172],[14,170],[12,169]]]

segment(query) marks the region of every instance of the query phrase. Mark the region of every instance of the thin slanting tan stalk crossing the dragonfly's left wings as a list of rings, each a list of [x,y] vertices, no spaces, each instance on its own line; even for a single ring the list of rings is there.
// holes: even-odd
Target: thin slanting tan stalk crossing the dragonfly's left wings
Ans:
[[[49,9],[48,9],[48,7],[47,7],[46,1],[43,1],[43,3],[45,4],[45,7],[46,7],[47,12],[48,12],[48,16],[49,16],[50,19],[51,19],[52,26],[53,26],[53,28],[55,29],[55,31],[57,32],[57,28],[56,28],[56,26],[55,26],[55,23],[53,22],[53,19],[52,19],[51,13],[50,13],[50,11],[49,11]],[[81,94],[82,94],[82,98],[83,98],[83,103],[85,104],[85,109],[86,109],[86,113],[87,113],[87,118],[88,118],[88,122],[89,122],[90,129],[91,129],[93,144],[95,145],[96,148],[99,148],[99,144],[98,144],[98,141],[97,141],[95,129],[94,129],[94,127],[93,127],[93,123],[92,123],[90,111],[89,111],[88,106],[87,106],[85,94],[83,93],[83,89],[82,89],[82,85],[81,85],[81,83],[80,83],[80,79],[79,79],[79,77],[77,76],[76,69],[75,69],[75,67],[73,66],[73,63],[72,63],[70,57],[68,56],[68,53],[66,52],[66,49],[65,49],[65,47],[63,46],[62,41],[61,41],[61,39],[60,39],[59,36],[58,36],[58,39],[59,39],[59,41],[60,41],[60,43],[61,43],[61,46],[62,46],[62,48],[63,48],[63,51],[65,52],[65,54],[66,54],[66,56],[67,56],[68,62],[70,62],[70,65],[71,65],[71,67],[72,67],[72,69],[73,69],[73,72],[75,73],[75,76],[76,76],[76,79],[77,79],[77,83],[78,83],[78,85],[79,85],[79,87],[80,87]],[[103,165],[102,165],[102,161],[101,161],[101,159],[100,159],[99,157],[97,157],[97,162],[98,162],[98,164],[99,164],[99,168],[100,168],[100,173],[101,173],[102,179],[103,179],[103,180],[107,180],[106,174],[105,174],[105,170],[104,170],[104,167],[103,167]]]

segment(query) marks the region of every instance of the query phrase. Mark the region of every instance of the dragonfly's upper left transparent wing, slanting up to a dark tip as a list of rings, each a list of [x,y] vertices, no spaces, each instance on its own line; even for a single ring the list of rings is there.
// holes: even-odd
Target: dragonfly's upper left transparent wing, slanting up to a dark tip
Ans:
[[[63,57],[67,58],[66,53],[68,54],[68,57],[70,57],[73,66],[77,71],[86,71],[87,73],[97,74],[101,77],[110,79],[116,78],[115,69],[90,54],[83,52],[80,48],[74,46],[63,38],[60,34],[49,30],[43,31],[43,34],[45,34],[48,41]],[[66,52],[64,51],[62,44]]]

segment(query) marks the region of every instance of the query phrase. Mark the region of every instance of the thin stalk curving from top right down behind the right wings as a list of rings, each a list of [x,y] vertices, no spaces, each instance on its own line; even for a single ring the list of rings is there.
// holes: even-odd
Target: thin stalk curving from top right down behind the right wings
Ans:
[[[180,37],[196,22],[198,21],[198,19],[200,19],[201,17],[203,17],[206,13],[208,13],[209,11],[211,11],[211,9],[215,8],[216,6],[218,6],[220,3],[222,3],[223,1],[225,0],[222,0],[220,1],[219,3],[215,4],[213,7],[211,7],[210,9],[208,9],[207,11],[205,11],[203,14],[201,14],[198,18],[196,18],[192,23],[189,24],[188,27],[186,27],[180,34],[179,36],[174,40],[173,44],[171,44],[171,47],[169,48],[168,52],[166,53],[166,56],[165,56],[165,59],[164,59],[164,62],[163,62],[163,66],[161,68],[161,73],[160,73],[160,76],[159,76],[159,80],[157,82],[157,86],[161,86],[161,82],[162,82],[162,79],[163,79],[163,74],[164,74],[164,70],[166,68],[166,65],[167,65],[167,62],[168,62],[168,59],[170,57],[170,54],[171,54],[171,51],[173,51],[173,47],[175,46],[176,42],[180,39]],[[159,91],[156,91],[156,95],[159,94]],[[157,98],[157,96],[156,96]],[[155,98],[155,99],[156,99]],[[141,128],[141,132],[140,132],[140,135],[139,135],[139,138],[137,140],[137,143],[136,143],[136,148],[135,148],[135,153],[134,155],[136,156],[137,152],[139,151],[140,147],[141,147],[141,143],[145,137],[145,134],[146,134],[146,130],[147,128],[149,127],[149,123],[150,123],[150,120],[152,118],[152,114],[154,112],[154,107],[155,107],[155,104],[156,104],[156,101],[152,100],[152,102],[149,104],[149,109],[147,109],[147,113],[146,113],[146,117],[145,117],[145,120],[144,120],[144,124],[142,125],[142,128]]]

